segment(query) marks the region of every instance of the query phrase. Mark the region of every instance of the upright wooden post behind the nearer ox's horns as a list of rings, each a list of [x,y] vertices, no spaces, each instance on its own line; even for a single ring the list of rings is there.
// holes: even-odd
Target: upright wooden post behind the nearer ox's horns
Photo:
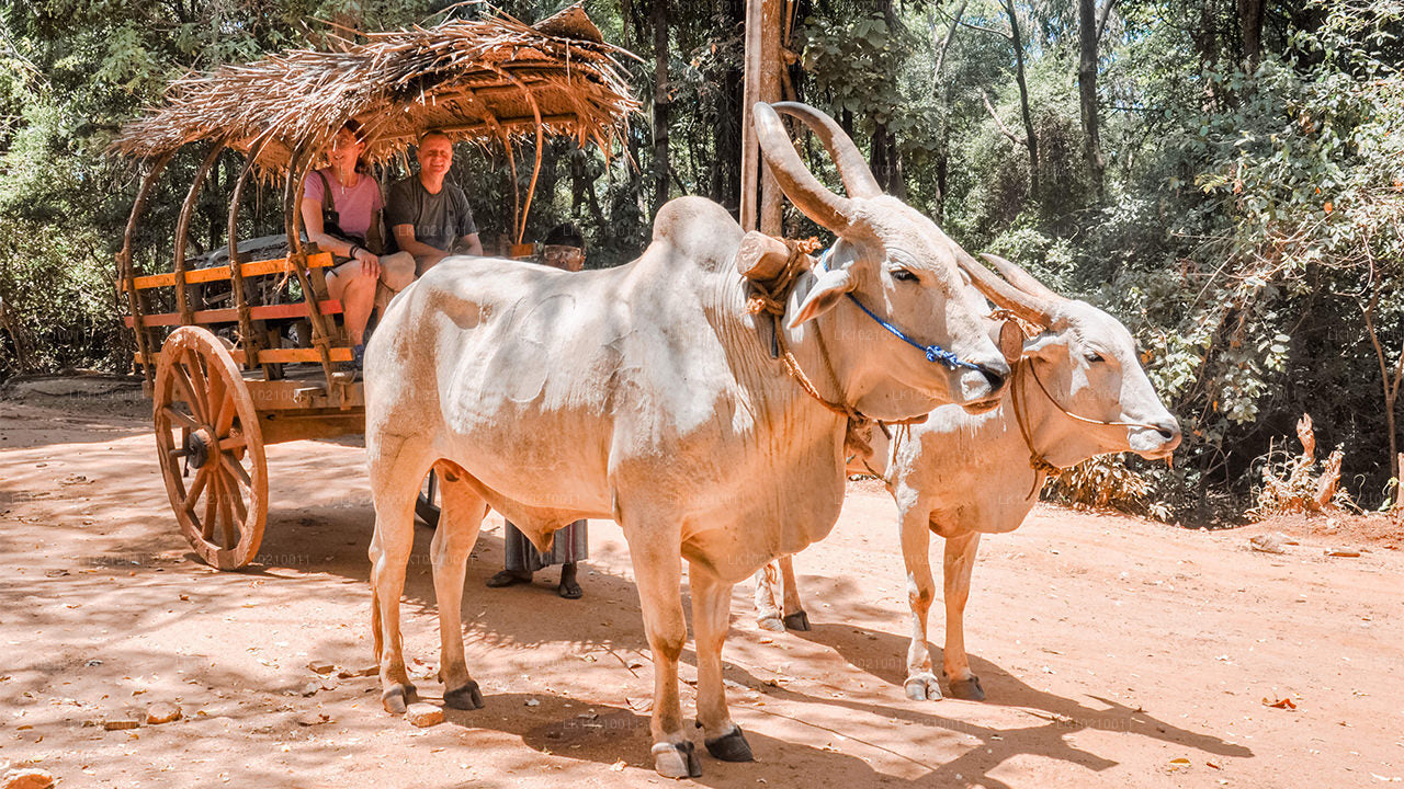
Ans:
[[[746,90],[741,112],[741,229],[779,236],[781,191],[769,170],[760,166],[760,143],[751,108],[781,98],[781,0],[746,3]],[[762,174],[764,170],[764,174]],[[764,188],[758,188],[764,185]],[[757,211],[760,197],[760,211]]]

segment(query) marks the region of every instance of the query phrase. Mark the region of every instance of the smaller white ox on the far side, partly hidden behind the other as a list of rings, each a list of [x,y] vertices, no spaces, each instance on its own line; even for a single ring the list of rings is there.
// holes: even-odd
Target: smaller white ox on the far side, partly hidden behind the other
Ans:
[[[946,541],[945,675],[953,696],[979,701],[984,689],[966,656],[965,605],[980,535],[1019,528],[1052,466],[1125,451],[1168,458],[1181,439],[1179,424],[1155,396],[1136,341],[1120,321],[1087,302],[1053,293],[1007,260],[984,257],[1008,282],[979,263],[962,264],[974,285],[997,305],[1047,329],[1024,341],[997,409],[972,414],[939,407],[925,424],[897,428],[890,441],[878,435],[873,462],[854,469],[880,475],[897,500],[911,605],[906,691],[913,699],[941,698],[927,644],[927,614],[935,597],[928,556],[932,532]],[[1022,331],[1011,338],[1015,348],[1019,338]],[[807,630],[790,557],[778,564],[755,574],[760,625]],[[775,599],[776,571],[783,611]]]

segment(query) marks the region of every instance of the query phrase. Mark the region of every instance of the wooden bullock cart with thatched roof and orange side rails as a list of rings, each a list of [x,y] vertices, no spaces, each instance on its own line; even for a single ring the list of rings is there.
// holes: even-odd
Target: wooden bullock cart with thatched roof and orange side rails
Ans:
[[[222,570],[258,553],[267,445],[364,431],[361,383],[337,369],[351,348],[341,305],[327,296],[324,270],[334,261],[300,236],[303,178],[337,129],[359,121],[375,164],[403,161],[430,129],[500,143],[514,173],[514,143],[535,139],[525,205],[514,201],[521,244],[543,138],[570,136],[608,154],[639,107],[615,59],[628,53],[605,44],[578,7],[536,25],[455,20],[357,38],[337,39],[334,52],[286,52],[178,80],[163,107],[124,126],[114,143],[145,164],[117,274],[153,400],[157,459],[181,532]],[[143,208],[187,145],[205,147],[170,264],[142,265],[133,240]],[[187,254],[191,216],[226,150],[244,160],[229,202],[227,248],[197,260]],[[239,241],[251,177],[281,184],[284,237],[272,253]]]

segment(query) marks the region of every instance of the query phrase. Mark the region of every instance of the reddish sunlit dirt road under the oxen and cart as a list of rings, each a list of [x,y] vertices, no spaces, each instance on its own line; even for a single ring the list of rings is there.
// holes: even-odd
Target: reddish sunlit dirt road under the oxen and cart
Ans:
[[[463,605],[487,706],[416,729],[380,709],[373,677],[307,668],[371,664],[361,449],[270,448],[260,563],[216,573],[177,533],[142,404],[55,403],[0,402],[0,772],[34,764],[84,788],[670,783],[651,771],[651,664],[614,524],[591,524],[585,597],[564,601],[553,571],[534,588],[483,587],[501,567],[490,517]],[[1248,549],[1262,528],[1040,507],[981,546],[967,643],[988,701],[913,702],[894,512],[855,484],[830,539],[796,557],[810,633],[757,630],[737,588],[729,698],[757,762],[706,758],[698,783],[1404,779],[1404,556],[1387,541],[1332,557],[1345,538],[1299,529],[1300,545],[1268,555]],[[418,536],[406,647],[435,699],[430,532]],[[684,688],[688,713],[691,698]],[[1296,709],[1265,705],[1280,699]],[[184,719],[104,727],[157,702]]]

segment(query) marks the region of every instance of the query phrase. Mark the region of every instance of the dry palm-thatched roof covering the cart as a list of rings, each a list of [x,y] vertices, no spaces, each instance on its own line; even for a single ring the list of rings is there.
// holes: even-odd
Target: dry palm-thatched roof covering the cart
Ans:
[[[288,166],[300,143],[324,147],[348,118],[372,139],[378,161],[428,129],[487,142],[536,133],[608,149],[637,111],[616,56],[573,6],[536,25],[511,18],[455,20],[369,34],[341,52],[292,51],[171,83],[164,107],[126,124],[112,147],[157,157],[197,140],[223,139],[258,154],[265,173]]]

